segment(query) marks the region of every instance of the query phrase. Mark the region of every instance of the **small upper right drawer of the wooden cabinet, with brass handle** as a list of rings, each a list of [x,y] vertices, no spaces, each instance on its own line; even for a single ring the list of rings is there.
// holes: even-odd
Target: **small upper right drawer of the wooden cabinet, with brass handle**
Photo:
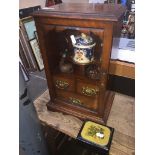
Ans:
[[[99,93],[99,87],[95,84],[77,80],[77,92],[85,96],[97,97]]]

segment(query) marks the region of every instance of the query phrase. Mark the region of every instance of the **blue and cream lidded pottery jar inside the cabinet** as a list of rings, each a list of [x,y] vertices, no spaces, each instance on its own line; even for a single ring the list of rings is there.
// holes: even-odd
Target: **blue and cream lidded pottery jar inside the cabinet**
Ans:
[[[78,64],[89,64],[94,60],[94,47],[96,43],[93,38],[81,33],[81,35],[71,35],[74,47],[73,61]]]

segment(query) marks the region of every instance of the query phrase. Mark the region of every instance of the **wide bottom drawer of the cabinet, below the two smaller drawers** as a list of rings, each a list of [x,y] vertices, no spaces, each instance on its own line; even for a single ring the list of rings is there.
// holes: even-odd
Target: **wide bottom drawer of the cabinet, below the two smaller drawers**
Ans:
[[[69,104],[75,105],[75,106],[81,106],[87,109],[91,110],[97,110],[97,99],[90,99],[88,97],[67,92],[67,91],[56,91],[57,98],[66,101]]]

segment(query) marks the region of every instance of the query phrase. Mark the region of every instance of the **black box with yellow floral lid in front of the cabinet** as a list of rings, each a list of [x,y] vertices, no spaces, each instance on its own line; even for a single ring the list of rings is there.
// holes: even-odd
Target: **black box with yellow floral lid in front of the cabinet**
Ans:
[[[102,150],[109,151],[114,129],[92,121],[85,121],[77,139],[96,146]]]

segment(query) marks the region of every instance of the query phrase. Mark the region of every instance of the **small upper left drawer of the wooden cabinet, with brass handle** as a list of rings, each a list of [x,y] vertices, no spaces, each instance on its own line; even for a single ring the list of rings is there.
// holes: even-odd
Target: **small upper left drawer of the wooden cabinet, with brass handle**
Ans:
[[[68,91],[75,90],[74,79],[64,78],[60,76],[54,76],[54,86],[56,89],[59,90],[68,90]]]

